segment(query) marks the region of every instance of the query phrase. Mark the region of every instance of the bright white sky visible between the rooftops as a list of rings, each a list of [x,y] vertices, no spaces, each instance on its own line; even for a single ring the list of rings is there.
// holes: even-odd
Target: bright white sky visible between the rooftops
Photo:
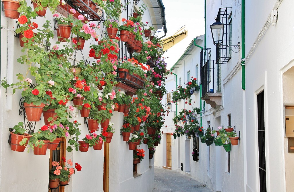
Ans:
[[[190,42],[204,34],[204,0],[162,0],[165,7],[167,34],[173,35],[178,29],[186,26],[188,37],[177,43],[164,53],[167,69],[171,68],[183,55]],[[158,32],[157,36],[163,36]],[[166,37],[163,37],[166,38]]]

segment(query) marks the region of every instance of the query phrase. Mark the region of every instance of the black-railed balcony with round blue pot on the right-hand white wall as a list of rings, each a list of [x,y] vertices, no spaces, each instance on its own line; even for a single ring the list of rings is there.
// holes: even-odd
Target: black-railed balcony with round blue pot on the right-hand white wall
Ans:
[[[207,104],[213,108],[218,108],[222,104],[221,93],[221,66],[216,63],[216,60],[209,60],[208,57],[210,49],[203,49],[201,51],[201,84],[202,97]],[[215,90],[216,85],[216,90]]]

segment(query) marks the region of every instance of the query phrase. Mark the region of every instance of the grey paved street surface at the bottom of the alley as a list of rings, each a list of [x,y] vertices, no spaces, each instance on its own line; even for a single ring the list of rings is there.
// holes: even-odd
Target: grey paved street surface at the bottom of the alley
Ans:
[[[211,190],[175,170],[155,167],[153,192],[211,192]]]

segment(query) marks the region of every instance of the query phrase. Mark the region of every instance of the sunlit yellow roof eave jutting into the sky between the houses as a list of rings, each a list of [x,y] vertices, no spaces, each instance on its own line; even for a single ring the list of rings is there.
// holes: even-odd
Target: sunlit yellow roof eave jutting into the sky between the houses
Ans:
[[[188,37],[188,30],[184,29],[185,27],[182,27],[170,37],[162,39],[161,42],[163,44],[163,49],[168,50],[169,48],[173,47],[173,45],[176,45],[178,42]]]

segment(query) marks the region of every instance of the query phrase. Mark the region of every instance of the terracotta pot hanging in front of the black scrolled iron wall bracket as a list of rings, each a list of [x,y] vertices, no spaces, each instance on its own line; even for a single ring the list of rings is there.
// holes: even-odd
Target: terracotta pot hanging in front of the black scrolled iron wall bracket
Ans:
[[[44,106],[44,103],[41,103],[40,105],[24,103],[24,110],[28,121],[40,121]]]

